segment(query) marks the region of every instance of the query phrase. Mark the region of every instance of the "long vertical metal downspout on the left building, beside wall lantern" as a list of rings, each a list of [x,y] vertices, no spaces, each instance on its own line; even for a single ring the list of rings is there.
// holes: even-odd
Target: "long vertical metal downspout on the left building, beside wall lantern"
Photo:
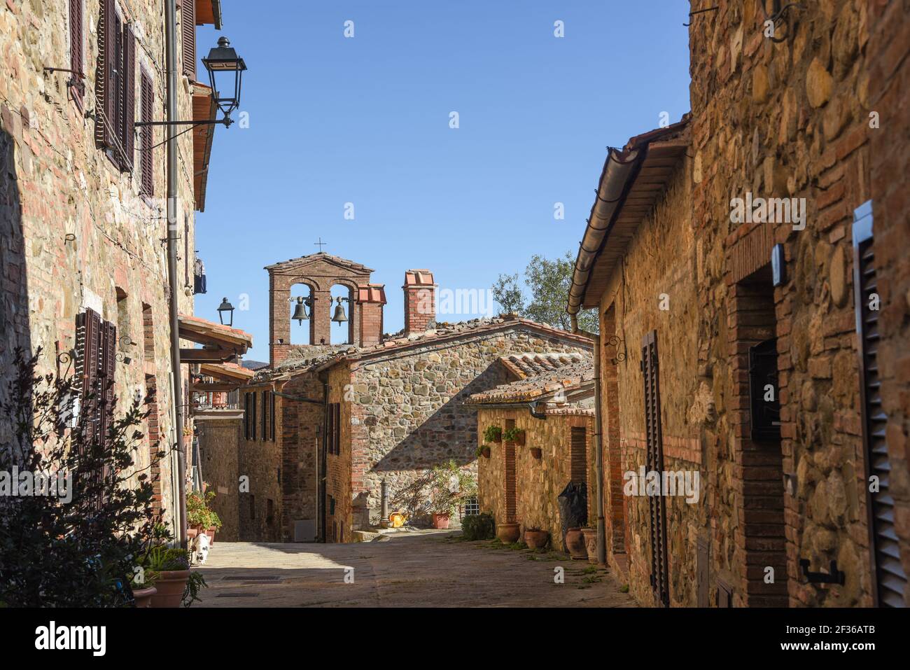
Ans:
[[[177,0],[165,3],[167,121],[177,121]],[[177,302],[177,133],[167,133],[167,281],[170,284],[171,368],[173,370],[174,443],[177,445],[177,506],[180,546],[187,548],[187,454],[183,449],[183,374],[180,369],[180,323]]]

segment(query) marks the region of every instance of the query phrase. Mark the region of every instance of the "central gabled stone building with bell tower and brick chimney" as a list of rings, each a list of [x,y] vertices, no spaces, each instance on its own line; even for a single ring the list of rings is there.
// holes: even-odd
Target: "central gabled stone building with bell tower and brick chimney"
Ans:
[[[476,471],[476,411],[464,401],[513,379],[503,357],[591,349],[584,337],[517,317],[437,322],[425,269],[405,273],[405,327],[390,336],[379,330],[384,288],[370,283],[364,266],[319,253],[268,271],[270,358],[279,362],[242,389],[238,444],[203,444],[204,461],[236,459],[239,476],[248,477],[238,501],[240,540],[349,542],[352,530],[379,521],[383,481],[394,495],[442,462]],[[328,329],[334,283],[354,297],[347,323],[356,345],[325,344],[319,335]],[[294,284],[313,289],[316,344],[288,346]],[[217,455],[224,451],[237,455]]]

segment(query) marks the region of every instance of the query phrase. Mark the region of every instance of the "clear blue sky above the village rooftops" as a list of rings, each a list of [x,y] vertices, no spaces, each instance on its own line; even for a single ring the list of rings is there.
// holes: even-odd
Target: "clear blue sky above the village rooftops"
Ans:
[[[686,2],[222,5],[222,30],[199,28],[198,51],[225,35],[245,58],[249,127],[216,129],[196,313],[217,319],[224,296],[247,294],[234,323],[254,336],[248,359],[268,360],[264,266],[321,237],[376,269],[385,330],[399,330],[406,269],[487,289],[535,253],[574,254],[606,147],[689,111]]]

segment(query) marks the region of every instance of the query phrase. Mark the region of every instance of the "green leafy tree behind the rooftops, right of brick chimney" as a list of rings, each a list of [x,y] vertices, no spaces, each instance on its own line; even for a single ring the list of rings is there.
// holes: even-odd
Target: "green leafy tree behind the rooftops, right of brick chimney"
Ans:
[[[540,254],[531,257],[524,269],[524,285],[531,293],[531,300],[525,302],[524,291],[518,273],[501,274],[492,287],[493,299],[500,303],[505,312],[517,312],[527,319],[549,323],[562,330],[571,330],[571,320],[566,312],[572,271],[575,259],[571,251],[557,259],[545,259]],[[598,332],[600,324],[595,310],[578,313],[581,330]]]

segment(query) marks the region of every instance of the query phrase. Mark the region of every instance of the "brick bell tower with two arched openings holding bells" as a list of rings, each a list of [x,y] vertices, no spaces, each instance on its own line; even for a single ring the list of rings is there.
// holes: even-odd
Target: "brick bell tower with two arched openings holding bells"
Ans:
[[[386,295],[383,285],[370,283],[373,269],[319,251],[268,265],[266,270],[268,352],[273,368],[295,350],[315,355],[333,349],[379,343]],[[335,286],[348,289],[347,296],[341,297],[340,302],[332,299],[332,287]],[[346,344],[331,344],[333,316],[336,323],[347,326]],[[341,320],[342,316],[348,320]],[[293,320],[295,317],[298,321]],[[309,344],[291,344],[292,328],[308,328]]]

